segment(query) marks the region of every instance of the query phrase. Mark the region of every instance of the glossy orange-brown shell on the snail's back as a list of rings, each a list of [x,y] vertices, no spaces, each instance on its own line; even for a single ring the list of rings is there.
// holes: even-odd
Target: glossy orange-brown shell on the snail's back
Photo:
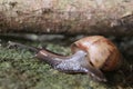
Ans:
[[[84,50],[89,62],[102,70],[111,71],[120,67],[122,56],[115,44],[102,36],[82,38],[72,43],[73,52]]]

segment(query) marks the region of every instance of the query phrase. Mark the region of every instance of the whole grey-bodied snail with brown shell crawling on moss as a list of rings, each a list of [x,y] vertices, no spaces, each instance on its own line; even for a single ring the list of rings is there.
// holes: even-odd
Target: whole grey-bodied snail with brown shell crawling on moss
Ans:
[[[102,71],[113,71],[121,67],[122,56],[115,44],[102,37],[91,36],[82,38],[71,44],[72,56],[62,56],[47,49],[40,49],[9,42],[10,46],[28,48],[35,52],[35,57],[52,68],[65,73],[86,73],[98,81],[108,81]]]

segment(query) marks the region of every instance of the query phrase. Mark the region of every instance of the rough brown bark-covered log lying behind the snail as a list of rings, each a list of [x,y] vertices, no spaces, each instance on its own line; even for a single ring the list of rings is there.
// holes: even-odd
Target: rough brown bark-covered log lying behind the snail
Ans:
[[[133,0],[0,0],[0,33],[133,36]]]

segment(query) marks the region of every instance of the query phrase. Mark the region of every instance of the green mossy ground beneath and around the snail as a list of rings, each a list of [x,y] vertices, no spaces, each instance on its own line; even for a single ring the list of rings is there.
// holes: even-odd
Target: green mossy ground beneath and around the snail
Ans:
[[[20,41],[19,41],[20,42]],[[64,41],[65,42],[65,41]],[[59,42],[28,42],[29,46],[47,46],[51,51],[70,55],[70,49]],[[122,76],[115,75],[115,78]],[[112,77],[111,77],[112,78]],[[121,79],[121,78],[119,78]],[[65,75],[33,58],[27,49],[0,47],[0,89],[132,89],[123,81],[95,82],[88,75]]]

